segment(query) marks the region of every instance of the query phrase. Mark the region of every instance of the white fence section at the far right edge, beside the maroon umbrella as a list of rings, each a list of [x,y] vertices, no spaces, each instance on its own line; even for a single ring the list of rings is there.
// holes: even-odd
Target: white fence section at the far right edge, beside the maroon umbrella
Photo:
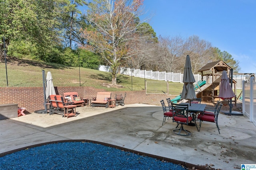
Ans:
[[[243,81],[242,88],[243,114],[249,117],[256,126],[256,82],[255,77]]]

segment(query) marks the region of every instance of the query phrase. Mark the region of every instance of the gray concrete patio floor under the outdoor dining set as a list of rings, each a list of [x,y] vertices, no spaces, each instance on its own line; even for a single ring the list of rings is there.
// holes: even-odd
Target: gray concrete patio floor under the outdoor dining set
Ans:
[[[201,131],[184,126],[190,136],[173,133],[176,123],[162,126],[161,106],[131,104],[115,108],[77,107],[76,117],[30,113],[0,120],[0,153],[40,143],[87,139],[215,169],[240,169],[255,164],[256,127],[246,116],[219,115]],[[199,124],[199,121],[198,121]]]

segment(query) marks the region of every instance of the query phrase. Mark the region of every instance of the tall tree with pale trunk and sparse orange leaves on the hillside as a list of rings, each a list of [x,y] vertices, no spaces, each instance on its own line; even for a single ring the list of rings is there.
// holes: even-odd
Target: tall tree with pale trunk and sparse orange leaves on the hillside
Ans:
[[[112,84],[116,85],[116,74],[122,59],[136,55],[138,51],[128,45],[136,42],[136,31],[143,21],[138,17],[143,13],[143,0],[93,0],[88,4],[86,20],[97,31],[84,29],[87,39],[84,48],[98,53],[112,68]]]

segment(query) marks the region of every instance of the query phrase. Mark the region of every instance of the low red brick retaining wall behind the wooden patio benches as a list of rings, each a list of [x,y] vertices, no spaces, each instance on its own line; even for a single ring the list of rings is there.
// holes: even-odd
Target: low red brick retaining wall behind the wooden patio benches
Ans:
[[[105,92],[103,89],[92,87],[55,87],[56,94],[62,95],[64,92],[78,92],[83,98],[92,98],[97,96],[97,92]],[[111,97],[125,92],[111,92]],[[146,98],[145,90],[126,92],[125,104],[142,103]],[[44,90],[43,87],[0,87],[0,104],[18,104],[18,107],[26,107],[27,111],[32,113],[35,110],[44,109]]]

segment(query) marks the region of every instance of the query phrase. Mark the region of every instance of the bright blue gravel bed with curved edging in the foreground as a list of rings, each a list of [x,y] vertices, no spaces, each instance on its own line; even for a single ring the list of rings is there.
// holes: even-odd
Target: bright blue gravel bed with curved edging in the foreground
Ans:
[[[87,142],[42,145],[0,157],[0,170],[51,169],[186,170],[171,162]]]

